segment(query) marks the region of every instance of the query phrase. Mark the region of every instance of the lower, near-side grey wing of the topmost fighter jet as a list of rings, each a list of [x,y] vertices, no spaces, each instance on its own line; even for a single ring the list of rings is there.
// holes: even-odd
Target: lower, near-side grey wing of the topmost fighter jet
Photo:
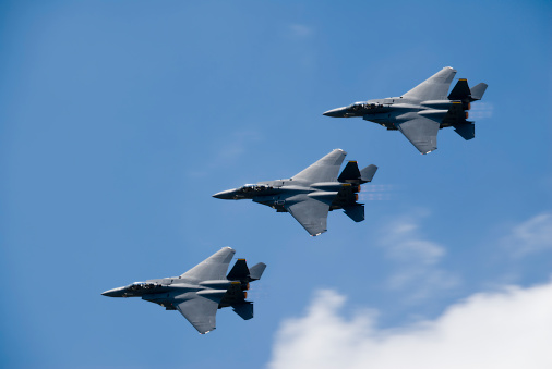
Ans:
[[[421,153],[428,153],[437,148],[439,126],[439,122],[424,116],[397,124],[398,130]]]

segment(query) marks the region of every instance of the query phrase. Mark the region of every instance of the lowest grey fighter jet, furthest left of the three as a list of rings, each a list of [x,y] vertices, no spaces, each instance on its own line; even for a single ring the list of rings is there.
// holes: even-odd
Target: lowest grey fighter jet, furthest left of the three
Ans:
[[[238,259],[225,276],[236,251],[224,247],[180,276],[135,282],[113,288],[101,295],[109,297],[142,297],[178,310],[200,332],[216,328],[217,309],[231,306],[244,320],[253,318],[253,303],[248,297],[249,282],[261,279],[266,265],[260,262],[248,268],[245,259]]]

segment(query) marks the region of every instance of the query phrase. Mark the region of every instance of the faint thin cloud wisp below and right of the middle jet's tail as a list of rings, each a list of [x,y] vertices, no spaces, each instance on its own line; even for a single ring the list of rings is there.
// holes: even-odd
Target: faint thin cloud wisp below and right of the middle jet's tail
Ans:
[[[419,221],[425,216],[425,211],[417,211],[413,216],[387,222],[380,239],[395,267],[386,285],[391,290],[405,291],[410,303],[420,303],[434,293],[460,284],[457,275],[439,266],[446,254],[445,248],[427,239],[419,231]]]

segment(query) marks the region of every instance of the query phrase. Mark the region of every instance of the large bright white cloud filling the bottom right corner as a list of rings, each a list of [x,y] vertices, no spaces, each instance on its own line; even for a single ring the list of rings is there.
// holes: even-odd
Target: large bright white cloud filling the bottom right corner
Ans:
[[[475,294],[435,320],[377,328],[374,310],[344,317],[346,298],[319,291],[276,334],[271,369],[549,369],[552,283]]]

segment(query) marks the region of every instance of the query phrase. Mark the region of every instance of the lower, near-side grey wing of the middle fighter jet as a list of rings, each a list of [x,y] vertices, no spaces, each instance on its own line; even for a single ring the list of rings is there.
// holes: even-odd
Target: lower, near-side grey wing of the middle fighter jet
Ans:
[[[286,209],[311,236],[317,236],[327,231],[329,205],[307,197],[305,200],[296,202]]]

